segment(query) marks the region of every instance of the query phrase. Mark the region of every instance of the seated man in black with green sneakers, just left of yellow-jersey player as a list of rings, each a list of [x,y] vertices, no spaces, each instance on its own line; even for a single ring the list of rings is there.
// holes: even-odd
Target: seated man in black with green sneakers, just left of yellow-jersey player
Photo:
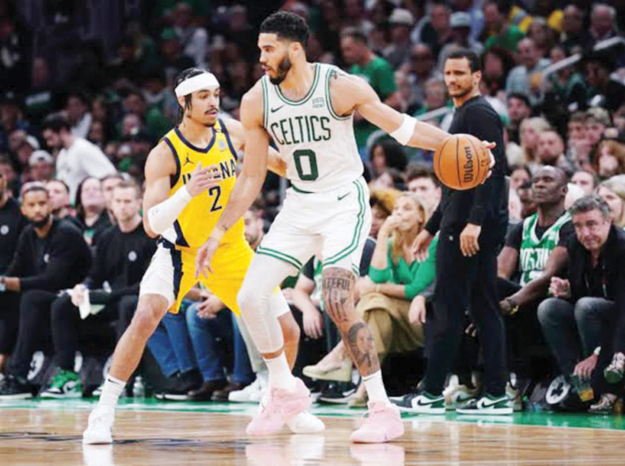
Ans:
[[[110,323],[118,320],[122,300],[128,298],[136,303],[141,278],[156,251],[156,242],[145,233],[141,221],[141,188],[136,183],[119,183],[113,189],[110,207],[115,224],[101,233],[89,277],[51,305],[52,342],[58,372],[48,388],[41,391],[41,398],[82,396],[83,386],[74,372],[74,356],[80,349],[80,338],[93,342],[107,335]],[[87,306],[91,310],[89,315],[80,312],[80,306],[85,307],[85,303],[90,304]],[[104,307],[92,308],[91,304]],[[106,347],[102,349],[106,351]]]

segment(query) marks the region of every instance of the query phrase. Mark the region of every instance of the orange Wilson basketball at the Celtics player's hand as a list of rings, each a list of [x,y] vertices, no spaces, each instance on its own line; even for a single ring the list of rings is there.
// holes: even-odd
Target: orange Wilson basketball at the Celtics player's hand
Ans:
[[[453,135],[434,154],[438,180],[451,189],[471,189],[489,176],[489,151],[471,135]]]

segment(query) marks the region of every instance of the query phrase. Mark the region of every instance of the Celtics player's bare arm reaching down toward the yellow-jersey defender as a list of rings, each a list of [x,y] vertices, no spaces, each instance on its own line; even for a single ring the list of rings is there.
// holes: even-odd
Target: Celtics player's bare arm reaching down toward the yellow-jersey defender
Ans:
[[[245,131],[245,156],[224,213],[196,258],[196,277],[212,272],[210,262],[224,233],[242,217],[258,196],[267,175],[269,136],[262,127],[262,89],[260,82],[247,92],[241,102],[241,123]]]

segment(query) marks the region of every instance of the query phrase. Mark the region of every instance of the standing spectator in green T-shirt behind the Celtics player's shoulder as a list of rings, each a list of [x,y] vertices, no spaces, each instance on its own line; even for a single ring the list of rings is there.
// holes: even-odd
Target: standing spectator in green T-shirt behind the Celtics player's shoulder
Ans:
[[[349,73],[365,79],[387,105],[398,109],[400,99],[395,86],[395,75],[392,67],[383,58],[374,54],[367,45],[366,36],[356,28],[347,28],[340,34],[340,48],[343,59],[350,66]],[[354,116],[354,133],[361,157],[366,158],[366,140],[377,129],[371,123]]]

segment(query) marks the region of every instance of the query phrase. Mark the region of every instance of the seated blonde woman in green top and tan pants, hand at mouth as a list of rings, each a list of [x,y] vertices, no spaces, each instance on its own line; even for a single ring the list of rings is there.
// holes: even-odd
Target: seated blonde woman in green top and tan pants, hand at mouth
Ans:
[[[369,279],[357,283],[357,294],[360,296],[357,312],[371,330],[381,362],[389,353],[412,351],[423,346],[421,323],[409,313],[412,300],[427,290],[436,275],[437,238],[429,247],[429,257],[422,263],[415,259],[411,248],[426,221],[425,208],[417,196],[409,192],[401,193],[395,201],[392,215],[384,221],[378,233]],[[327,373],[337,369],[337,366],[344,365],[345,355],[341,342],[317,365],[304,370],[304,374],[321,373],[322,369],[326,369]],[[317,378],[328,378],[321,375]],[[349,406],[365,404],[365,385],[361,383]]]

